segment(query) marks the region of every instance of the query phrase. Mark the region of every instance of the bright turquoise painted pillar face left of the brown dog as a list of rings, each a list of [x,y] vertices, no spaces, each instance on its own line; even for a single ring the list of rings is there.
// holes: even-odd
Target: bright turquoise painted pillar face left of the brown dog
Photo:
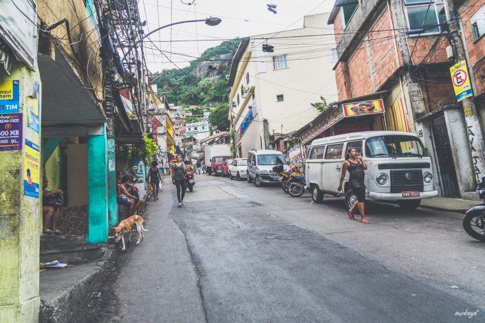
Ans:
[[[106,126],[103,135],[87,140],[88,210],[87,242],[108,241],[108,157]]]

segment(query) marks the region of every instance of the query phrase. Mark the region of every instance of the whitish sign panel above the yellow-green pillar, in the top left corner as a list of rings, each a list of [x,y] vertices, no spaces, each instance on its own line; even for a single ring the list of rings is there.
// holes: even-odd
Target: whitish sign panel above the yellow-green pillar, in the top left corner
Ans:
[[[37,57],[35,1],[0,1],[0,36],[31,68]]]

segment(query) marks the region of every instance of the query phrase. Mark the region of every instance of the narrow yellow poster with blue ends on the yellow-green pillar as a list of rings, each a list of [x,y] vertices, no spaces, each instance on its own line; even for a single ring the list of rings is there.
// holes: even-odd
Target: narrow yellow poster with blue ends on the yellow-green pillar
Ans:
[[[28,197],[39,197],[41,153],[39,146],[25,140],[25,159],[23,161],[23,192]]]

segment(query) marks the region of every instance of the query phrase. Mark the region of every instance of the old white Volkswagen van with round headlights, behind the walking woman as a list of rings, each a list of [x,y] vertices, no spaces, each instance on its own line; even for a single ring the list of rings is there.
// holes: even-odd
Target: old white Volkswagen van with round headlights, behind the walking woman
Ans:
[[[349,148],[355,148],[367,162],[366,197],[396,202],[401,208],[414,210],[421,199],[438,196],[433,186],[431,159],[417,135],[398,131],[363,131],[316,139],[305,163],[305,176],[316,203],[323,194],[339,196],[337,191],[342,164]],[[345,205],[357,200],[345,175]]]

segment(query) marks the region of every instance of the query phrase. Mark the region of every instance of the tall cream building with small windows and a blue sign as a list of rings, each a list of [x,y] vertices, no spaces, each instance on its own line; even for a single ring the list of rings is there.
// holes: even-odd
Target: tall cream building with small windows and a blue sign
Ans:
[[[228,80],[238,157],[252,148],[269,148],[274,135],[292,133],[315,118],[319,113],[310,103],[320,102],[321,96],[337,99],[334,37],[321,36],[319,29],[326,27],[328,16],[305,16],[303,28],[241,41]],[[273,52],[264,52],[266,45]]]

